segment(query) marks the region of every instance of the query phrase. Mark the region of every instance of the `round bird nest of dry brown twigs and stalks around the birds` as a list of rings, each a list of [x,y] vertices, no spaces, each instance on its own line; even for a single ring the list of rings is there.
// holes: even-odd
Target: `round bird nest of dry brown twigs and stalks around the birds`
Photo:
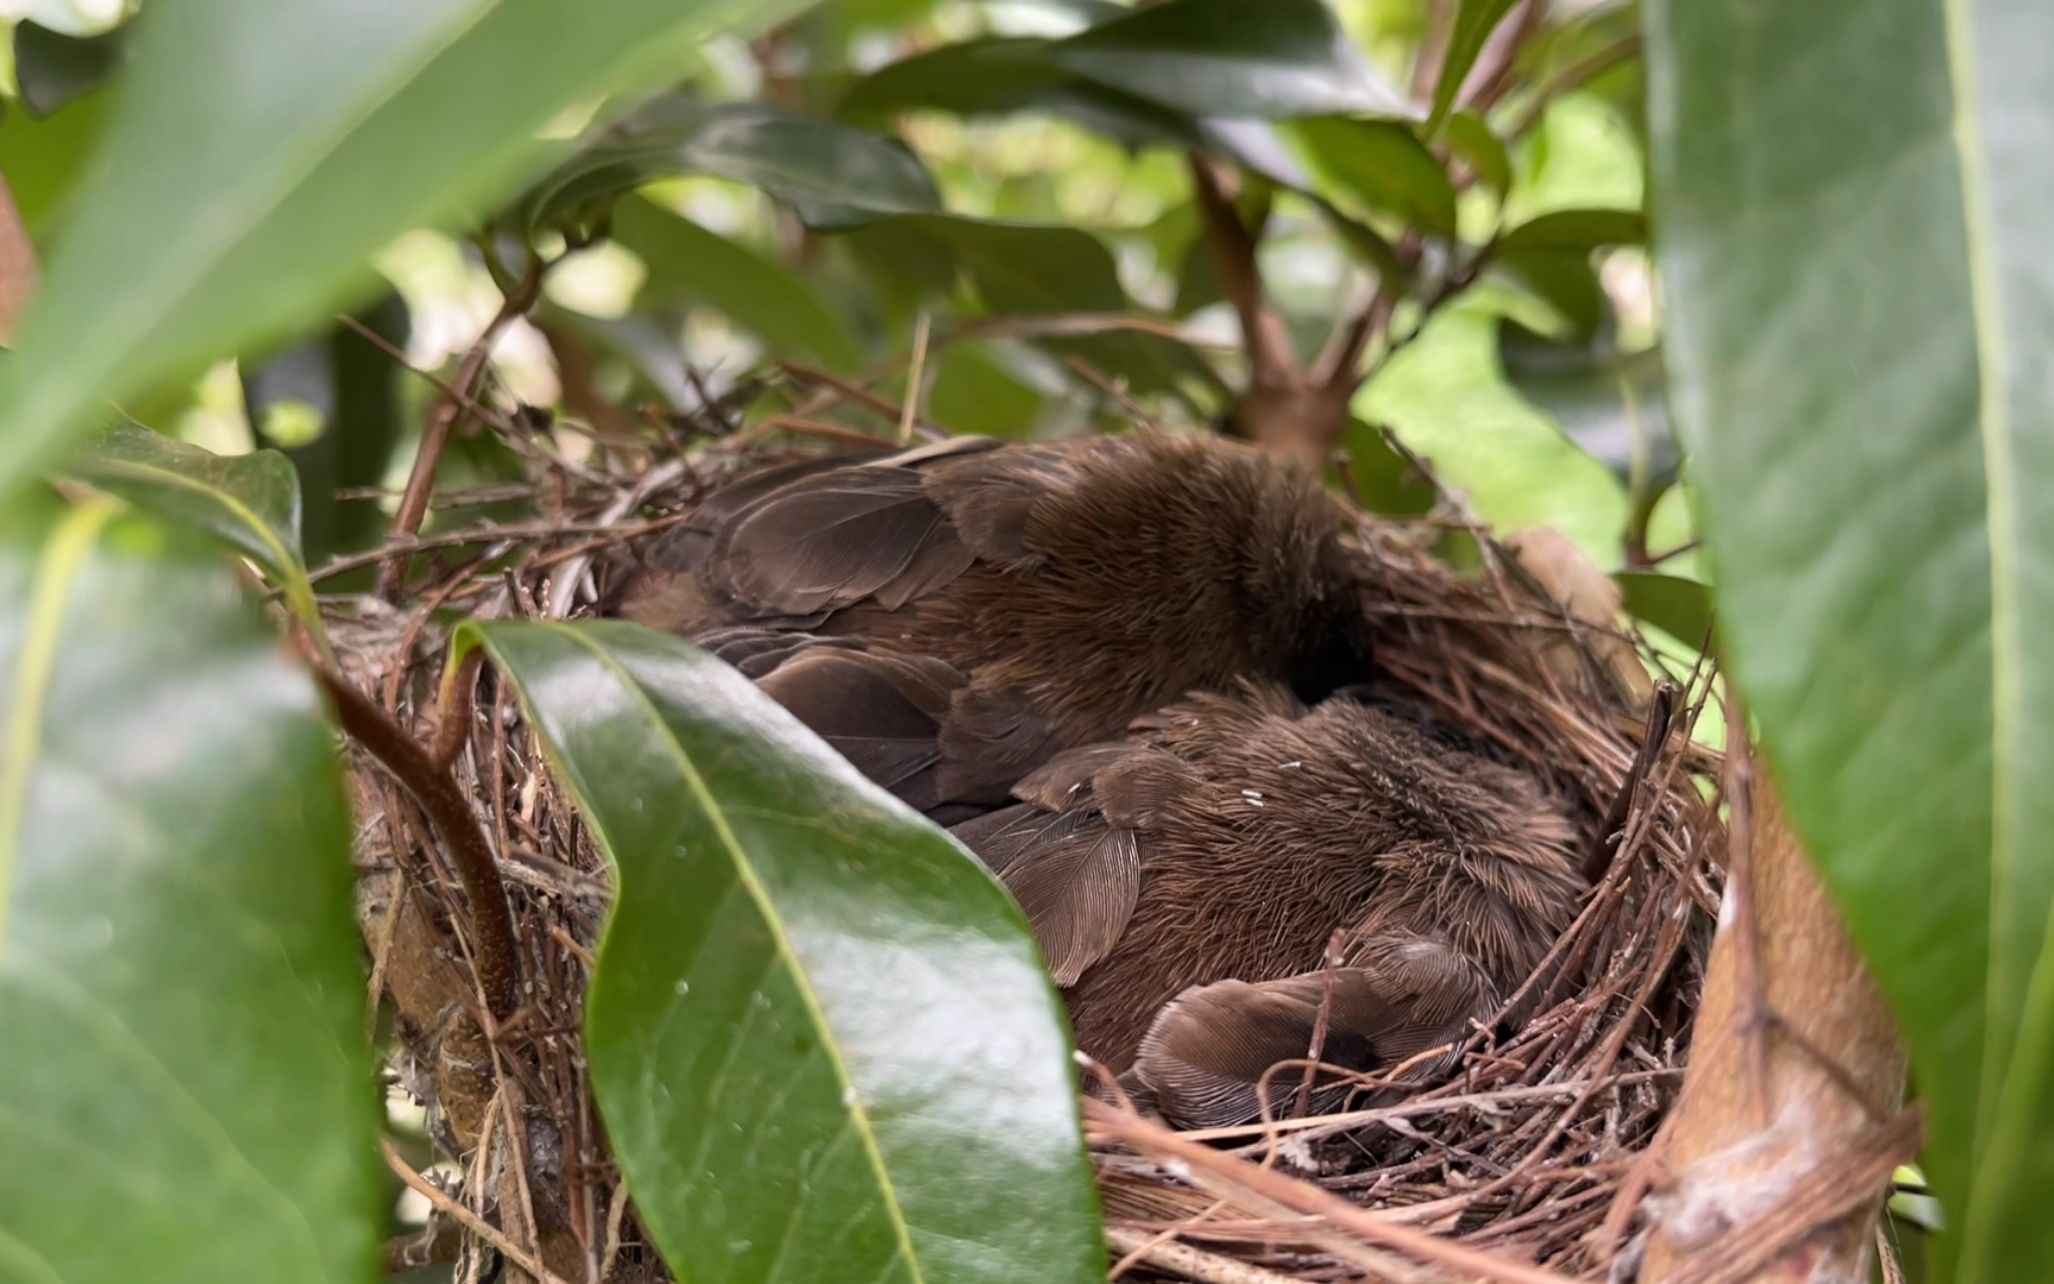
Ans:
[[[807,448],[854,431],[820,436]],[[785,456],[752,431],[596,448],[581,464],[536,450],[528,485],[440,495],[431,534],[325,573],[394,559],[411,571],[388,598],[325,598],[331,633],[349,676],[435,746],[483,818],[526,978],[509,1021],[485,1017],[458,871],[409,791],[359,758],[372,996],[390,1021],[394,1101],[427,1107],[425,1136],[388,1161],[435,1210],[392,1241],[392,1268],[454,1257],[458,1280],[489,1278],[497,1257],[542,1280],[668,1278],[608,1159],[581,1054],[608,865],[511,692],[489,672],[452,711],[435,692],[454,620],[592,614],[639,540]],[[460,512],[505,499],[542,516],[466,524]],[[1117,1099],[1087,1101],[1111,1270],[1216,1284],[1606,1278],[1635,1251],[1645,1155],[1678,1097],[1719,904],[1719,764],[1690,735],[1709,672],[1656,690],[1653,653],[1614,627],[1602,592],[1596,610],[1557,600],[1602,577],[1545,540],[1510,551],[1446,495],[1425,518],[1366,516],[1364,530],[1389,586],[1378,664],[1571,799],[1594,888],[1508,1003],[1532,1015],[1475,1027],[1430,1081],[1364,1083],[1327,1113],[1183,1134]],[[1440,557],[1450,542],[1465,569]]]

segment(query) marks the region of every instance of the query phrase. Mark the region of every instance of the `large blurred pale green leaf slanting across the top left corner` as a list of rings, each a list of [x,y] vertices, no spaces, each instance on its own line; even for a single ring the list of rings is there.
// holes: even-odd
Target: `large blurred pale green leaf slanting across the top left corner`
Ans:
[[[103,399],[255,347],[362,290],[372,251],[501,189],[540,125],[645,72],[649,51],[785,8],[152,4],[136,18],[136,62],[49,261],[43,306],[18,335],[21,360],[0,370],[0,501]]]

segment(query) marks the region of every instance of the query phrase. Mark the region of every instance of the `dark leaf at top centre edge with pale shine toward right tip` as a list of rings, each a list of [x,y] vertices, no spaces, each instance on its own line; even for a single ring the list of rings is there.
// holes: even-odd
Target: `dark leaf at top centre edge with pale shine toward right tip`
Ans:
[[[1165,0],[1056,41],[1048,55],[1189,115],[1421,115],[1323,0]]]

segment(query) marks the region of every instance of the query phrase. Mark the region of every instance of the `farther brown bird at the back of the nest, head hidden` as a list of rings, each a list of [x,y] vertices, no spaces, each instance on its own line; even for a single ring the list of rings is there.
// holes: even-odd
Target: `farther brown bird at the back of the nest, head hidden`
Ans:
[[[1310,473],[1212,436],[949,440],[713,493],[620,614],[694,637],[951,822],[1185,692],[1362,680],[1347,524]]]

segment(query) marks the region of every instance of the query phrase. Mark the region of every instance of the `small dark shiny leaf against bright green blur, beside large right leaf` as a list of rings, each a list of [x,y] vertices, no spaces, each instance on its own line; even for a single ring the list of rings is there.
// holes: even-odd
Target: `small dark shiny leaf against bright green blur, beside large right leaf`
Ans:
[[[1526,401],[1619,477],[1676,473],[1660,351],[1619,351],[1602,339],[1557,343],[1504,318],[1497,357]]]

